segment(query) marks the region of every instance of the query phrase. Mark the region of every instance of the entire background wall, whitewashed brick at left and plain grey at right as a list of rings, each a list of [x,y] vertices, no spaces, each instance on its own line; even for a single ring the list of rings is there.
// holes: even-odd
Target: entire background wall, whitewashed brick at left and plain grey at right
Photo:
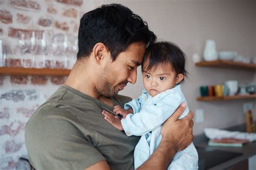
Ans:
[[[246,57],[256,55],[256,2],[253,0],[0,0],[0,39],[11,44],[10,58],[15,58],[19,56],[18,39],[12,33],[15,29],[76,36],[83,13],[113,2],[128,6],[147,21],[158,38],[176,42],[187,54],[190,76],[182,88],[190,109],[205,111],[205,122],[194,124],[194,134],[203,132],[205,127],[226,128],[244,122],[242,103],[248,102],[246,100],[197,102],[195,98],[199,96],[201,85],[233,79],[239,83],[256,82],[256,74],[245,70],[197,68],[191,56],[193,53],[201,55],[205,40],[209,38],[215,40],[218,51],[238,51]],[[71,60],[73,56],[69,57]],[[64,80],[65,77],[0,76],[0,169],[14,169],[17,159],[26,154],[25,123]],[[138,74],[137,83],[127,86],[121,94],[138,97],[142,88],[142,76]]]

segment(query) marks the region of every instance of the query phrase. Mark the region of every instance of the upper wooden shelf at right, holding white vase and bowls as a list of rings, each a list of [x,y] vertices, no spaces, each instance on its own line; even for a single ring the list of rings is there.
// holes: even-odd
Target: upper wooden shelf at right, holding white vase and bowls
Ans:
[[[234,62],[226,60],[215,60],[215,61],[203,61],[197,62],[197,67],[225,67],[225,68],[240,68],[248,70],[256,70],[256,65],[252,63]]]

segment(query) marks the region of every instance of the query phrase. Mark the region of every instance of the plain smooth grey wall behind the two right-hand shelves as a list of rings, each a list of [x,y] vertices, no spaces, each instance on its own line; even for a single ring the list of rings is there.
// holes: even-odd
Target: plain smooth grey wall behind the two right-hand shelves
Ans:
[[[110,3],[113,1],[104,1]],[[117,1],[115,1],[117,2]],[[253,100],[198,102],[199,86],[238,80],[239,84],[256,82],[255,72],[195,67],[191,56],[203,55],[206,39],[216,42],[217,51],[237,51],[247,58],[255,56],[256,2],[234,1],[118,1],[129,6],[142,16],[157,34],[159,39],[176,42],[186,53],[189,78],[183,84],[183,91],[191,110],[204,109],[203,123],[194,124],[194,134],[203,132],[206,127],[226,128],[245,122],[242,104]],[[138,69],[140,73],[140,69]],[[142,86],[138,76],[136,87]],[[131,88],[132,89],[132,88]],[[137,97],[138,90],[126,89],[123,94]],[[255,101],[254,117],[256,117]]]

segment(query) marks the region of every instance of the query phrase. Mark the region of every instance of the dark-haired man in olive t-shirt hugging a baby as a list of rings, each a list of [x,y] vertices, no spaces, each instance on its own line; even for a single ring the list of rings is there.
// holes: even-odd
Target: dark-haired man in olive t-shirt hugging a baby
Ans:
[[[26,124],[26,147],[36,169],[134,168],[139,137],[127,137],[101,112],[131,100],[118,91],[136,82],[146,46],[155,40],[147,24],[122,5],[102,5],[85,13],[75,66]],[[174,154],[191,143],[193,113],[178,121],[184,108],[165,122],[159,147],[139,169],[166,169]]]

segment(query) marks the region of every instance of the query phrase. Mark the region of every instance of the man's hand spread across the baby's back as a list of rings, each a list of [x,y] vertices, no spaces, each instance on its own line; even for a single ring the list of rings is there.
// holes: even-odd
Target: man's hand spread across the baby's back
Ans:
[[[169,143],[174,151],[184,150],[192,143],[193,136],[193,117],[194,113],[190,111],[188,115],[182,119],[178,119],[186,108],[186,104],[181,104],[174,114],[168,118],[162,129],[163,142]]]

